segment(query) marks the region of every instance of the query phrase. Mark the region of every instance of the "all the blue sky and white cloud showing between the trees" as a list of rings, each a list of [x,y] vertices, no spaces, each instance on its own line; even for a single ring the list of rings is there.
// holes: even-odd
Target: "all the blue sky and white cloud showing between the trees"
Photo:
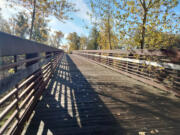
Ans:
[[[11,7],[6,7],[7,0],[0,0],[0,8],[2,9],[2,15],[5,19],[10,18],[18,11],[23,10],[24,8],[18,6],[16,10]],[[65,38],[70,32],[77,32],[80,36],[88,36],[89,30],[86,29],[86,26],[90,27],[91,20],[87,15],[87,12],[91,13],[90,7],[87,4],[88,0],[71,0],[76,4],[76,8],[79,9],[76,13],[71,13],[70,16],[73,17],[73,20],[68,20],[65,23],[58,21],[55,17],[50,16],[49,27],[52,31],[62,31],[65,35]],[[180,0],[179,5],[175,8],[175,12],[180,15]],[[65,44],[67,41],[63,39]]]

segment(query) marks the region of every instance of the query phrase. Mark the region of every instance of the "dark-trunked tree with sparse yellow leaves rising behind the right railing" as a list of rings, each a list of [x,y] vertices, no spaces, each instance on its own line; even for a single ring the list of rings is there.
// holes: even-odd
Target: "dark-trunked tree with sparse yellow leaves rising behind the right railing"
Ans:
[[[177,6],[178,0],[127,0],[123,2],[114,0],[114,4],[118,8],[117,25],[124,37],[130,40],[132,33],[140,28],[138,32],[141,49],[148,47],[146,38],[157,34],[157,31],[159,33],[176,33],[178,31],[178,19],[172,10]],[[175,29],[177,31],[174,31]]]

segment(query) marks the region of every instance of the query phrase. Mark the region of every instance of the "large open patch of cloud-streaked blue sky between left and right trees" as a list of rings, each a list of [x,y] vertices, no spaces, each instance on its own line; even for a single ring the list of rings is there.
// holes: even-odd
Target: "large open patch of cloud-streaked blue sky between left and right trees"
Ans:
[[[79,9],[76,13],[71,13],[70,16],[73,20],[68,20],[65,23],[59,22],[55,17],[49,23],[49,26],[55,30],[61,30],[65,33],[65,37],[70,32],[77,32],[79,35],[87,36],[89,31],[85,28],[91,24],[90,17],[87,12],[91,12],[90,8],[86,4],[85,0],[72,0],[76,4],[76,8]]]

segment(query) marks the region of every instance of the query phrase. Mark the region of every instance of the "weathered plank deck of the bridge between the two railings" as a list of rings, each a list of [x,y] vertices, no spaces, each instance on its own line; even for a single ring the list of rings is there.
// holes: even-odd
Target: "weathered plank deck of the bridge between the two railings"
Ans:
[[[180,98],[65,56],[23,135],[178,135]]]

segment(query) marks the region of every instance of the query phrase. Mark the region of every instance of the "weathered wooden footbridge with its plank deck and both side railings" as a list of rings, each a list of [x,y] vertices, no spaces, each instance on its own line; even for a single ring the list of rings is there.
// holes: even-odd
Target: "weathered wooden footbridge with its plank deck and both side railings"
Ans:
[[[0,33],[0,135],[179,135],[180,51],[63,50]]]

